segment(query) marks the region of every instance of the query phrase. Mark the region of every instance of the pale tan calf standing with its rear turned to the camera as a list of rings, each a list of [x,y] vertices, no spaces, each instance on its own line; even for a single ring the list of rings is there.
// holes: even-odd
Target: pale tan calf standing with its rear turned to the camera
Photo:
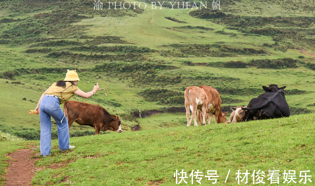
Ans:
[[[191,86],[185,90],[184,97],[185,97],[187,127],[191,125],[192,119],[194,120],[194,125],[198,126],[197,121],[196,121],[197,109],[201,110],[202,115],[203,115],[202,125],[206,125],[205,116],[207,112],[207,103],[208,103],[208,97],[207,97],[206,92],[199,87]],[[192,117],[189,120],[190,110],[192,111]]]

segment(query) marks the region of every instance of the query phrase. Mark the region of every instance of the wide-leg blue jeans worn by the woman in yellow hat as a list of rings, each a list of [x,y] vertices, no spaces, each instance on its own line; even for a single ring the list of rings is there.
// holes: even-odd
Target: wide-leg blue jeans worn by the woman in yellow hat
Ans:
[[[44,96],[39,105],[40,118],[40,154],[49,155],[51,150],[51,117],[57,123],[59,149],[69,148],[69,127],[67,118],[60,108],[60,100],[53,96]]]

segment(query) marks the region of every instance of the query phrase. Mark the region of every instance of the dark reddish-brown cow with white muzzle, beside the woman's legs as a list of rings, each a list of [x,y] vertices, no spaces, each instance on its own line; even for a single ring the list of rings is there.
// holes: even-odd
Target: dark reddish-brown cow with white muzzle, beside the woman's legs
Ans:
[[[106,130],[122,132],[119,117],[109,114],[105,108],[98,105],[67,101],[63,106],[63,110],[68,120],[69,129],[74,121],[79,125],[88,125],[95,128],[95,135]]]

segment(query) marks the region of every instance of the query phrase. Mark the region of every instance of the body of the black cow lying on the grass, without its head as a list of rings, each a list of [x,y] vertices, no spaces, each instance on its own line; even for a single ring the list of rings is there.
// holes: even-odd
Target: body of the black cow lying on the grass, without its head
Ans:
[[[263,93],[249,101],[243,120],[272,119],[290,116],[290,108],[282,89],[277,92]]]

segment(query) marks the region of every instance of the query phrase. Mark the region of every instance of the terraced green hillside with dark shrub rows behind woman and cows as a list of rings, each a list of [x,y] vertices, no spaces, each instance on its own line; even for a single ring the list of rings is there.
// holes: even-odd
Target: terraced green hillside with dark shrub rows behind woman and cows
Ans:
[[[186,125],[183,92],[201,84],[219,91],[224,112],[269,83],[287,86],[291,114],[315,110],[313,1],[229,0],[221,10],[211,2],[207,9],[102,2],[103,10],[93,3],[0,2],[1,131],[38,139],[39,117],[28,111],[67,69],[77,69],[81,90],[104,88],[72,100],[120,116],[124,131]],[[93,130],[74,124],[71,135]]]

